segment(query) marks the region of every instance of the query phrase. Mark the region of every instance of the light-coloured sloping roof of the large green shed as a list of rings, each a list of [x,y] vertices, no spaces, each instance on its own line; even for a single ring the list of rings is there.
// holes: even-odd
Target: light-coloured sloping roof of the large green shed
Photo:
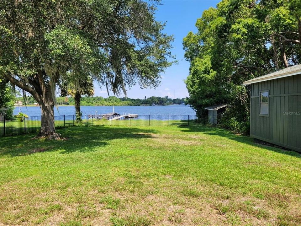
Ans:
[[[250,79],[246,82],[244,82],[244,85],[249,85],[252,83],[257,83],[257,82],[264,82],[272,79],[277,79],[277,78],[283,78],[283,77],[288,77],[296,74],[301,74],[301,64],[292,66],[292,67],[287,67],[284,69],[280,69],[277,71],[274,71],[272,73],[262,75],[257,78]]]

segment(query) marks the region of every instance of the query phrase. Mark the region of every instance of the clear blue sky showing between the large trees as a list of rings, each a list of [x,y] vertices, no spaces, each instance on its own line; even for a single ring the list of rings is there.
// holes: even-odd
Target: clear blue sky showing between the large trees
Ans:
[[[162,73],[162,80],[156,89],[140,89],[139,85],[127,89],[130,98],[143,99],[144,96],[169,96],[170,98],[185,98],[188,96],[183,79],[189,74],[189,62],[184,59],[182,48],[183,37],[189,31],[196,32],[196,20],[202,16],[202,12],[210,6],[215,7],[219,1],[215,0],[163,0],[162,5],[156,11],[157,21],[167,21],[164,32],[174,36],[172,54],[176,55],[178,64],[169,67]],[[113,95],[113,94],[112,94]],[[107,97],[107,91],[95,84],[94,96]]]

